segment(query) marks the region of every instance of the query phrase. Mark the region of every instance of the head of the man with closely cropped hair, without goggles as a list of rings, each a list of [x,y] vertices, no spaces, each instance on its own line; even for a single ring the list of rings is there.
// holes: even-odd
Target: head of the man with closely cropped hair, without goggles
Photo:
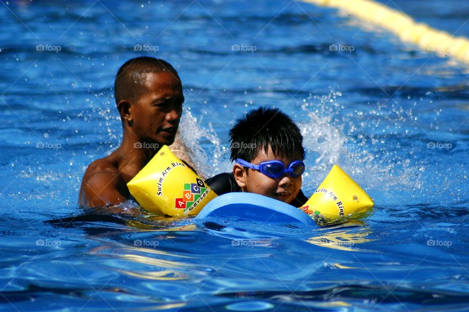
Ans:
[[[117,72],[114,93],[125,133],[141,143],[174,142],[184,96],[171,64],[149,57],[128,60]]]

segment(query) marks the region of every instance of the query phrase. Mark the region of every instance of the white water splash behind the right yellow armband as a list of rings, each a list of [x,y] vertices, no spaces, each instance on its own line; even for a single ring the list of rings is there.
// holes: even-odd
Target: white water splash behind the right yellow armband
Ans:
[[[298,123],[307,150],[307,171],[304,176],[303,190],[306,194],[314,192],[334,164],[338,164],[352,176],[365,191],[384,203],[392,198],[394,204],[402,204],[406,198],[400,190],[414,192],[415,198],[422,195],[425,177],[422,176],[424,159],[398,153],[400,141],[406,134],[395,133],[383,138],[374,135],[381,129],[381,122],[388,122],[389,115],[399,115],[402,108],[380,107],[368,112],[348,113],[349,107],[341,105],[341,93],[310,96],[301,106],[307,114],[306,120]],[[386,110],[385,114],[383,110]],[[365,114],[360,128],[357,119],[351,114]],[[386,119],[386,120],[383,120]],[[405,122],[398,116],[396,123]],[[406,127],[408,128],[408,127]]]

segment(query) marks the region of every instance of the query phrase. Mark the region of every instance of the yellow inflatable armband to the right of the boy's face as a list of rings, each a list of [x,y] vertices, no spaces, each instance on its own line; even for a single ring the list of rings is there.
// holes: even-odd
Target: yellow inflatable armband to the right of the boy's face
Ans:
[[[373,199],[334,165],[316,192],[299,208],[317,224],[327,224],[365,217],[372,212],[373,205]]]

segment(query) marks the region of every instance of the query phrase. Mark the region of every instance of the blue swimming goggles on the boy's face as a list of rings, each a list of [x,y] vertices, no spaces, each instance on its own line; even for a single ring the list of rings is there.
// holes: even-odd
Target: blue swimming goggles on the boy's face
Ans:
[[[272,178],[278,178],[280,176],[283,176],[285,173],[288,173],[292,177],[297,177],[301,176],[304,172],[304,162],[302,162],[301,160],[292,161],[288,166],[288,169],[285,168],[283,162],[281,162],[280,160],[263,161],[258,165],[247,162],[246,160],[243,160],[241,158],[237,158],[235,161],[243,167],[258,170],[262,174]]]

